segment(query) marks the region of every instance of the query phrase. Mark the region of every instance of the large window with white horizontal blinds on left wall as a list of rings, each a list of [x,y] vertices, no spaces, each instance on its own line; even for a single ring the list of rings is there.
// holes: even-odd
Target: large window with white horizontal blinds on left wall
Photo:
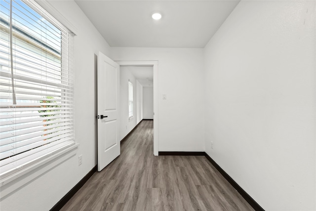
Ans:
[[[0,178],[75,144],[72,40],[36,2],[0,0]]]

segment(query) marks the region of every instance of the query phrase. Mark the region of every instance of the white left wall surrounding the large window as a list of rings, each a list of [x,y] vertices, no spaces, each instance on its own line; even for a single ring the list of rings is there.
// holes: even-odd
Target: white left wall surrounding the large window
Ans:
[[[50,3],[77,29],[74,49],[77,155],[46,171],[3,197],[1,211],[47,211],[67,194],[97,163],[96,154],[96,57],[109,54],[110,46],[86,18],[75,1]],[[78,166],[78,156],[82,165]],[[55,163],[56,160],[48,163]],[[41,168],[40,168],[41,169]],[[39,170],[40,170],[39,169]],[[21,181],[30,173],[18,179]]]

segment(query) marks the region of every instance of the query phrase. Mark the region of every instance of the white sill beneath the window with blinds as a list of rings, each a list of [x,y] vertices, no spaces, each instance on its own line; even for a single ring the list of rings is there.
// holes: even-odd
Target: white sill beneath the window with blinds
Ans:
[[[0,182],[0,188],[1,188],[0,199],[10,194],[11,192],[15,191],[16,189],[22,187],[26,183],[32,181],[36,177],[45,173],[46,171],[61,164],[65,160],[69,159],[70,157],[76,155],[77,153],[76,149],[78,148],[78,146],[79,146],[79,143],[75,143],[74,145],[67,147],[66,149],[58,153],[55,153],[31,166],[28,166],[24,169],[21,169],[17,172],[14,172],[2,178]]]

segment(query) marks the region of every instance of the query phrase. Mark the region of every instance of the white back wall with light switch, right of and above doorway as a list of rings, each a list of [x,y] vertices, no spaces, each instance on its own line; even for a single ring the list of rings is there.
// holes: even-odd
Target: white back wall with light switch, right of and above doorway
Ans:
[[[158,150],[204,151],[203,49],[112,47],[111,58],[158,60]]]

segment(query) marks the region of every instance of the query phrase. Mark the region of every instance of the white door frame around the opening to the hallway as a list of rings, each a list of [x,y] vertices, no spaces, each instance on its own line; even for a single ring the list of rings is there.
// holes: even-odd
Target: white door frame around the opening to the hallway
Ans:
[[[158,156],[158,61],[157,60],[126,60],[115,61],[119,66],[153,67],[154,71],[154,155]]]

